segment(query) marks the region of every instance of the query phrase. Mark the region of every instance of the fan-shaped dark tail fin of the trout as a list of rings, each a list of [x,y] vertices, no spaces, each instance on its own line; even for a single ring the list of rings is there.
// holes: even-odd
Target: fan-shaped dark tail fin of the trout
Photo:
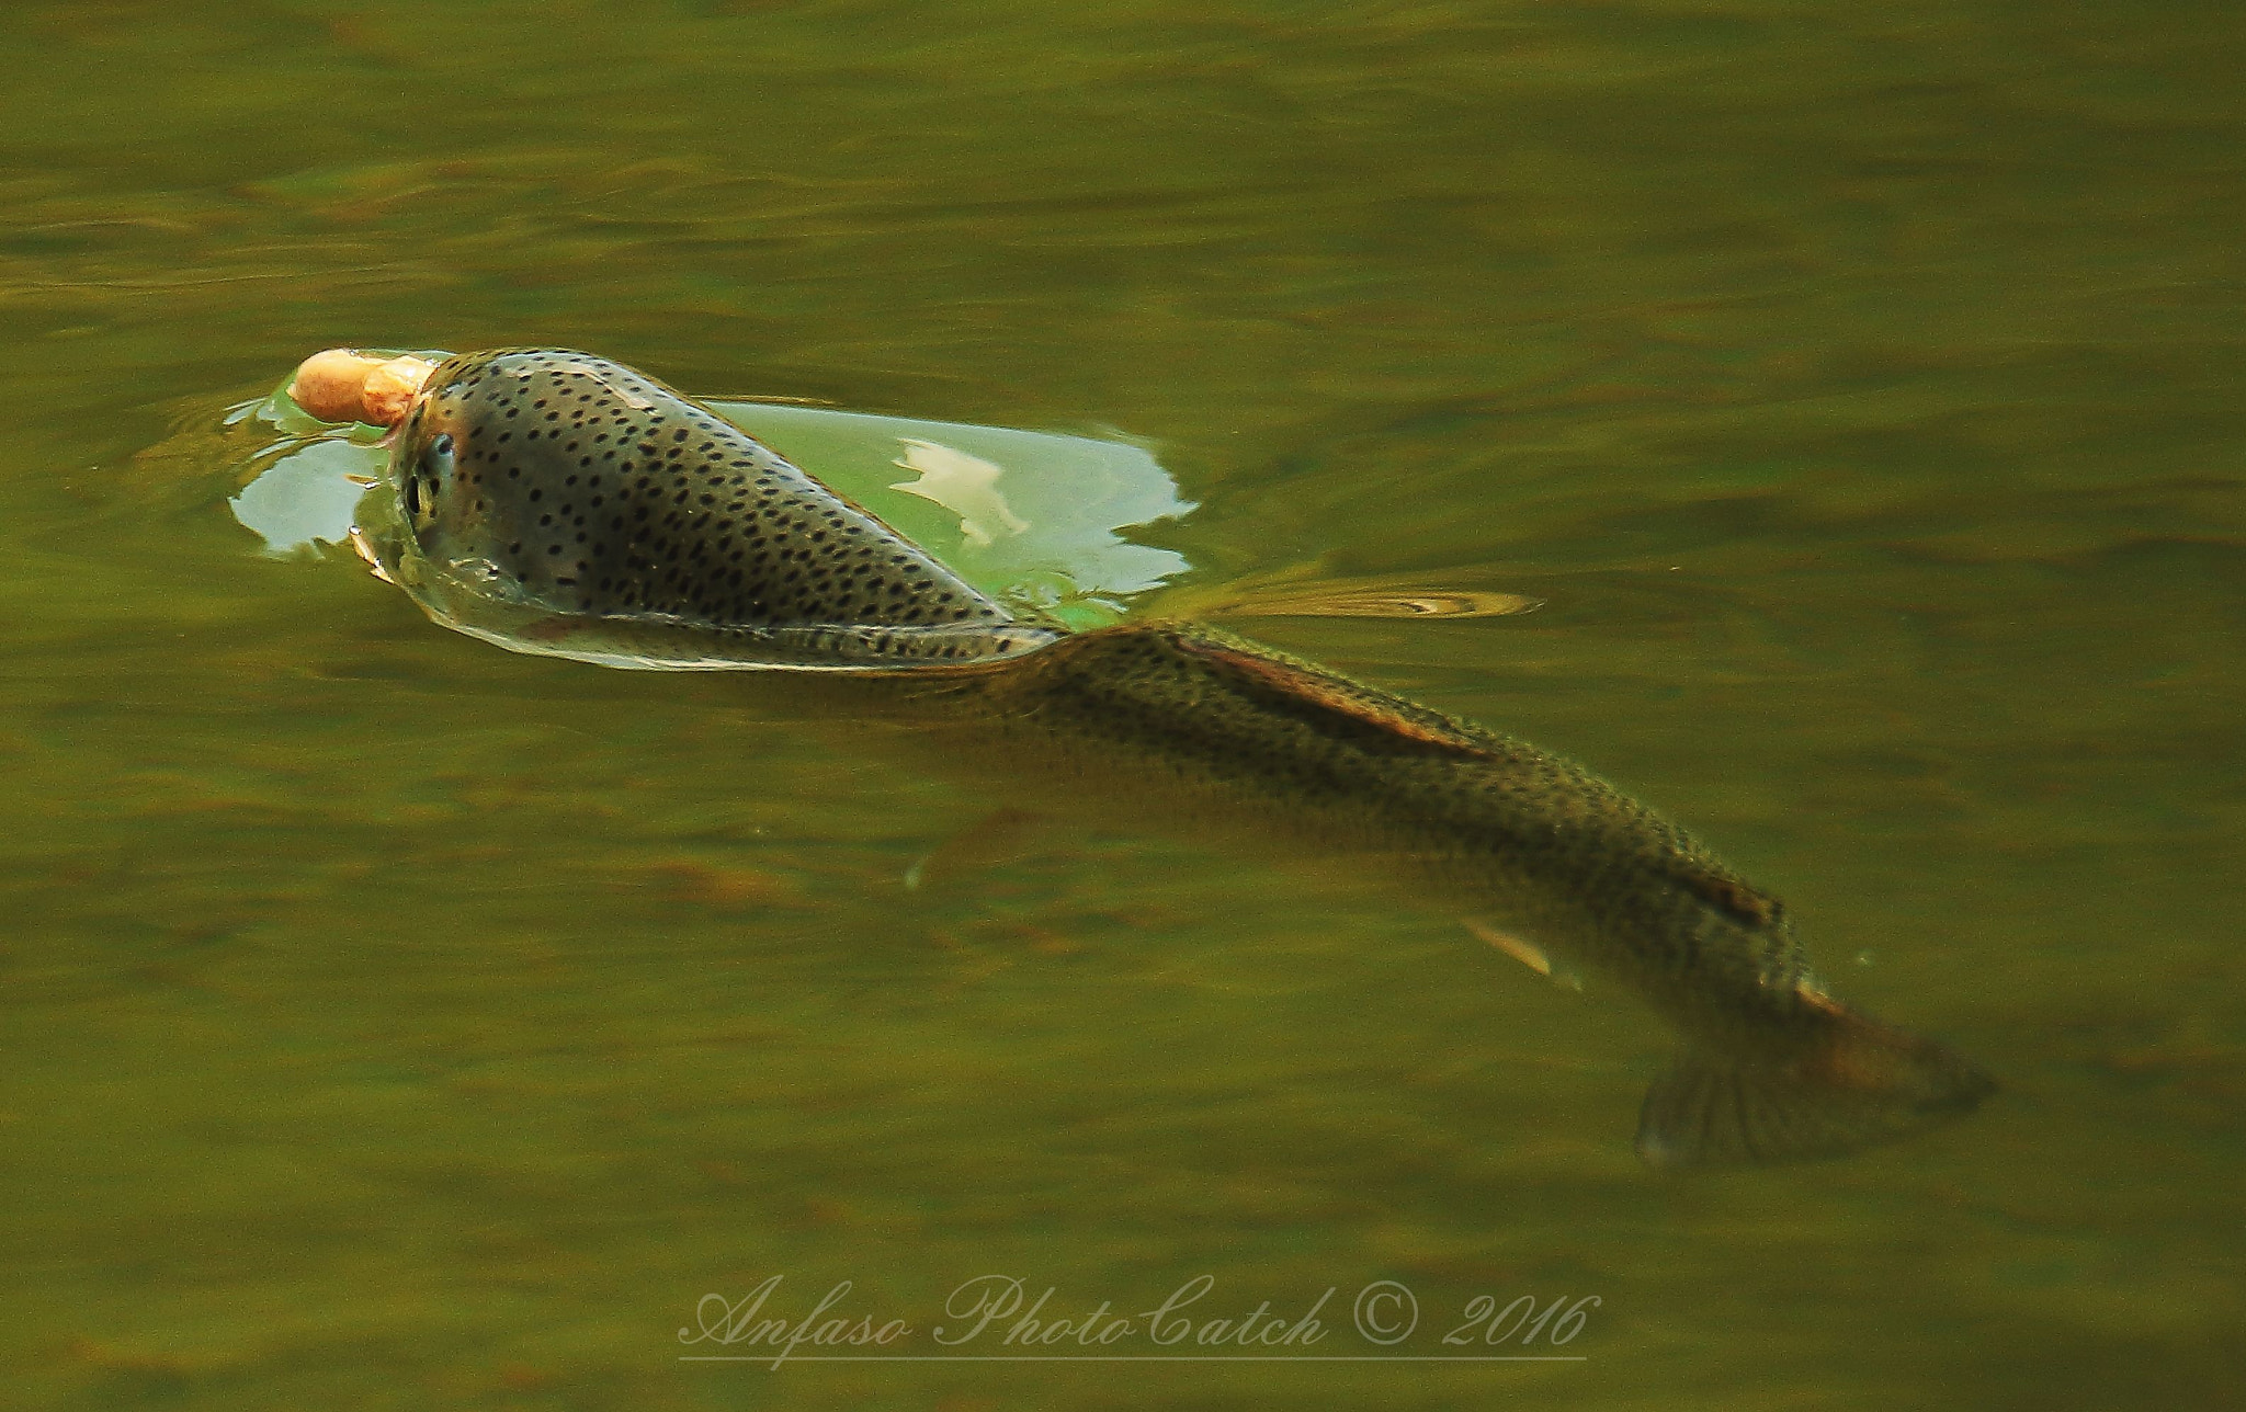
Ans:
[[[1997,1091],[1972,1060],[1830,1008],[1830,1030],[1783,1062],[1687,1051],[1637,1118],[1651,1167],[1718,1167],[1842,1156],[1936,1127]]]

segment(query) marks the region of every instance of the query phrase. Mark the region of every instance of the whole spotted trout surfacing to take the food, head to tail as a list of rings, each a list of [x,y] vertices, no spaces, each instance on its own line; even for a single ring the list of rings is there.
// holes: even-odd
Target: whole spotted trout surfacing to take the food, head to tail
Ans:
[[[620,364],[440,364],[386,487],[377,568],[447,626],[609,664],[858,673],[880,709],[1062,788],[1408,878],[1532,970],[1615,981],[1678,1039],[1640,1107],[1651,1167],[1844,1156],[1997,1091],[1835,999],[1779,898],[1583,765],[1211,624],[1029,620]]]

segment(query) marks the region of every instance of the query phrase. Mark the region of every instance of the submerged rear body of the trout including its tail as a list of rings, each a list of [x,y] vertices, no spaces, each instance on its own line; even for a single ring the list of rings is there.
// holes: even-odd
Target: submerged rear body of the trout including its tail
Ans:
[[[1080,633],[982,673],[1013,759],[1278,824],[1422,882],[1536,970],[1619,981],[1682,1037],[1653,1165],[1835,1156],[1970,1111],[1992,1082],[1824,992],[1792,918],[1581,765],[1199,624]],[[1080,786],[1078,786],[1080,788]]]

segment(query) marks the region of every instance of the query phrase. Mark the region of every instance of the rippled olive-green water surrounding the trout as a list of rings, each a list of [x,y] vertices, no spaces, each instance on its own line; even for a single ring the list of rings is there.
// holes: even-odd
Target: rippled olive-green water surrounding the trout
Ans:
[[[0,1403],[2246,1396],[2235,7],[117,0],[0,54]],[[330,343],[1114,429],[1190,588],[1536,595],[1253,631],[1590,761],[2006,1093],[1658,1179],[1660,1030],[1446,916],[265,557],[213,429]],[[990,1273],[1336,1289],[1318,1354],[1599,1304],[1496,1349],[1581,1363],[678,1360],[770,1275],[932,1354]]]

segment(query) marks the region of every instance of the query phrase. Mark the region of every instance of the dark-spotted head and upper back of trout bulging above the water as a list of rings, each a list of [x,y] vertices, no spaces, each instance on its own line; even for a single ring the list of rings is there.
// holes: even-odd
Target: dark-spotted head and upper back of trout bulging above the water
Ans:
[[[584,352],[440,364],[391,483],[384,568],[456,624],[503,611],[505,635],[485,635],[532,651],[851,667],[1056,635],[716,413]]]

